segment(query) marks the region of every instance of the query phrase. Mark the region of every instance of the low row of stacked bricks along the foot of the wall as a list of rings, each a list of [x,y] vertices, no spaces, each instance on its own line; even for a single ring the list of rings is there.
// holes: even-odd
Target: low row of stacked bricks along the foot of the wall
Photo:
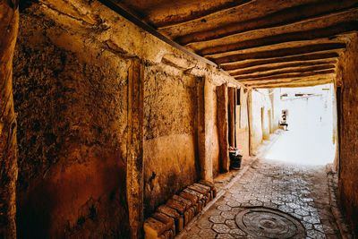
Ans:
[[[171,239],[217,196],[214,184],[201,180],[175,194],[144,222],[146,239]]]

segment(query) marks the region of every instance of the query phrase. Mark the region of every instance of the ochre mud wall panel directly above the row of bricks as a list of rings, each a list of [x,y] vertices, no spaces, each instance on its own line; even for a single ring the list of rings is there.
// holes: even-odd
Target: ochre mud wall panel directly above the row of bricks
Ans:
[[[159,66],[144,81],[144,212],[198,180],[196,78]]]

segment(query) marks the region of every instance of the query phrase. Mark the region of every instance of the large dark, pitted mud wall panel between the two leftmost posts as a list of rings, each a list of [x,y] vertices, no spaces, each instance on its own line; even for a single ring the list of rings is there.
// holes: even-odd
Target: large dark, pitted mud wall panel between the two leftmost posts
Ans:
[[[30,11],[13,63],[18,236],[126,238],[127,62],[85,41],[56,47],[47,31],[66,31]]]

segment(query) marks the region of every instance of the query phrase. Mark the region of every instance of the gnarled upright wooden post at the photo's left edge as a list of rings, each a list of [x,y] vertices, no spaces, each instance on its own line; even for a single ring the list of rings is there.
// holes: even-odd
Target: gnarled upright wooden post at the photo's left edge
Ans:
[[[13,50],[18,1],[0,0],[0,238],[16,238],[17,141],[13,108]]]

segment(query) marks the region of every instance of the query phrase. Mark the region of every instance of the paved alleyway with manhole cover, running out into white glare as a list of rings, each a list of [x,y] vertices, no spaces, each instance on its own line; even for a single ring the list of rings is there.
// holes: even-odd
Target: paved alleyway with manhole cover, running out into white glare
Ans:
[[[265,141],[259,159],[182,238],[341,238],[326,166],[336,150],[332,107],[324,99],[284,101],[289,131]]]

